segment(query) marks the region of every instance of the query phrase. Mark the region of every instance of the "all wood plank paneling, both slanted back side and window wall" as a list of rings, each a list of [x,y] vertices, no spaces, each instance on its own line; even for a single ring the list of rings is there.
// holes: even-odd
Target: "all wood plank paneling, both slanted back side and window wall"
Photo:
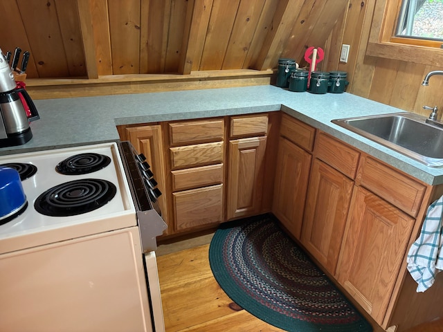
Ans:
[[[426,115],[423,105],[443,108],[443,77],[420,84],[441,68],[365,55],[372,19],[381,15],[376,1],[0,0],[0,48],[30,50],[28,78],[100,83],[117,75],[264,71],[281,57],[306,67],[306,48],[317,46],[325,50],[318,70],[347,71],[350,93]],[[346,64],[338,61],[342,44],[351,46]]]

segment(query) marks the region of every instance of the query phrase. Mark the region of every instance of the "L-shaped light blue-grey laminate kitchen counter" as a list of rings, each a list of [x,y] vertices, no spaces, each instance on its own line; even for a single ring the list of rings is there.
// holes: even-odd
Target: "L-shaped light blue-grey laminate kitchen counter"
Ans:
[[[332,134],[431,185],[443,183],[443,167],[426,167],[331,120],[402,111],[350,93],[294,93],[276,86],[171,91],[133,95],[35,100],[40,120],[31,122],[33,138],[0,155],[118,140],[118,124],[186,120],[282,111]]]

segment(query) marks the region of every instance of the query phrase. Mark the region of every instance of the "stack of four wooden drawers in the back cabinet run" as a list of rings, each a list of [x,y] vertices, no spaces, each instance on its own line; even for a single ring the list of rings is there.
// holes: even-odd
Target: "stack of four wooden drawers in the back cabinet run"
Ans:
[[[168,123],[174,231],[224,221],[224,118]]]

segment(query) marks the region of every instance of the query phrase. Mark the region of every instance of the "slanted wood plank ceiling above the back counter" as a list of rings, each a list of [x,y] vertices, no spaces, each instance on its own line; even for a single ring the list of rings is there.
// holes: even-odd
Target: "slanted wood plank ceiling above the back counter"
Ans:
[[[350,2],[0,0],[0,48],[30,51],[28,78],[265,70],[309,46],[336,70]]]

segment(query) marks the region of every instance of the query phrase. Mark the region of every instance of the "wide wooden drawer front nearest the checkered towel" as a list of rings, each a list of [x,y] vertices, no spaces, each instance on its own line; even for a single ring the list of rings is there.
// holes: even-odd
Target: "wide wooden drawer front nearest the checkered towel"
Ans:
[[[363,155],[356,182],[410,216],[417,216],[426,186]]]

